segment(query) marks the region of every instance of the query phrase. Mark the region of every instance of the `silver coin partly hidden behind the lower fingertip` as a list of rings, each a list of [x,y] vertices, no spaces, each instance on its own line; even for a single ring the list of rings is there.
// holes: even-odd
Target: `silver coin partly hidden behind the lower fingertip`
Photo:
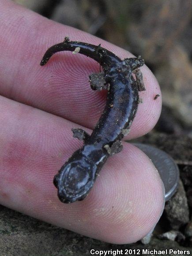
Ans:
[[[166,152],[142,143],[133,143],[151,159],[165,186],[165,199],[168,201],[176,192],[179,181],[179,168]]]

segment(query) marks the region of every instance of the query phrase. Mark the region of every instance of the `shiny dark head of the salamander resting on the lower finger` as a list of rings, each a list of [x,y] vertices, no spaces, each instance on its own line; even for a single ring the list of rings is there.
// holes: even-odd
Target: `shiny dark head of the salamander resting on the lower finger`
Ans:
[[[58,188],[58,197],[63,203],[83,200],[95,180],[97,166],[83,155],[70,158],[54,177],[53,183]]]

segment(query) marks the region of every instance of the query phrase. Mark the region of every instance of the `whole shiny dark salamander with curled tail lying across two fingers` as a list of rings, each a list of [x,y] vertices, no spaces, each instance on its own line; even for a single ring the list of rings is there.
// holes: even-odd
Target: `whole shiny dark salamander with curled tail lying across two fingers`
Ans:
[[[91,88],[108,90],[105,109],[92,134],[89,136],[82,129],[72,129],[73,136],[82,139],[84,145],[72,154],[54,177],[59,199],[64,203],[72,203],[87,196],[107,158],[122,149],[121,139],[128,134],[136,115],[139,101],[137,68],[144,61],[140,57],[120,60],[100,45],[65,38],[64,42],[46,51],[41,66],[60,51],[81,53],[99,62],[103,72],[90,75]],[[132,76],[134,70],[137,81]],[[143,85],[140,84],[139,90],[145,90]]]

